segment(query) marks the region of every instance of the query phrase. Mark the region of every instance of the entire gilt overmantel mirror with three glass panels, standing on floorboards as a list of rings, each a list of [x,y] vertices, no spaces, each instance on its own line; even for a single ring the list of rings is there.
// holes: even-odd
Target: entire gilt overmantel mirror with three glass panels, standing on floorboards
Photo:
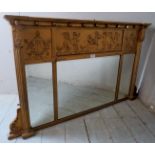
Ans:
[[[149,24],[5,16],[20,106],[9,139],[134,99]]]

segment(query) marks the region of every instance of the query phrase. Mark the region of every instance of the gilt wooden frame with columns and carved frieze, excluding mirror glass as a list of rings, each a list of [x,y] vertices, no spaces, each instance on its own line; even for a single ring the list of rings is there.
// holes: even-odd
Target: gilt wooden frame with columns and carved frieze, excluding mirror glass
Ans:
[[[12,26],[14,57],[20,99],[17,117],[10,125],[9,139],[18,136],[28,138],[40,129],[79,117],[126,99],[135,98],[135,81],[141,46],[144,40],[145,29],[150,24],[35,18],[10,15],[6,15],[5,18]],[[63,34],[63,36],[61,36],[61,34]],[[80,38],[79,36],[82,37]],[[94,40],[94,36],[98,39],[102,38],[102,40]],[[29,38],[31,41],[36,38],[39,39],[43,46],[37,50],[32,50],[34,47],[31,48],[33,45]],[[47,52],[45,53],[44,51]],[[135,54],[130,90],[127,97],[118,99],[123,55],[127,53]],[[114,102],[58,119],[57,62],[90,58],[92,54],[95,55],[95,57],[107,55],[120,56]],[[52,63],[54,121],[32,128],[30,125],[26,91],[25,65],[42,62]]]

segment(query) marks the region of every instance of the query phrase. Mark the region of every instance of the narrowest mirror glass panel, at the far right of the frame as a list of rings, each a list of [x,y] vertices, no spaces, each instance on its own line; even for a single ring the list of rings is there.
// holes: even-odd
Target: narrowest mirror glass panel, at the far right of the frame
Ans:
[[[125,98],[129,94],[133,62],[134,54],[126,54],[123,56],[123,66],[118,99]]]

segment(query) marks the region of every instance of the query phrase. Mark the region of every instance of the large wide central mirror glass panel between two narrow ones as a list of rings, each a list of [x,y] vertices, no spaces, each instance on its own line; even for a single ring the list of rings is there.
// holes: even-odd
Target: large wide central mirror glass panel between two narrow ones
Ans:
[[[114,101],[119,56],[58,62],[58,117]]]

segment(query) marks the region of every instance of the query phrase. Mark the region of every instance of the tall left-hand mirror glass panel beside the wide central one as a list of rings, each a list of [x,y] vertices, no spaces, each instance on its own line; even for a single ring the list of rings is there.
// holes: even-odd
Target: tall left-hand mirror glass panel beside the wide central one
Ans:
[[[31,126],[53,121],[52,64],[26,65],[26,82]]]

